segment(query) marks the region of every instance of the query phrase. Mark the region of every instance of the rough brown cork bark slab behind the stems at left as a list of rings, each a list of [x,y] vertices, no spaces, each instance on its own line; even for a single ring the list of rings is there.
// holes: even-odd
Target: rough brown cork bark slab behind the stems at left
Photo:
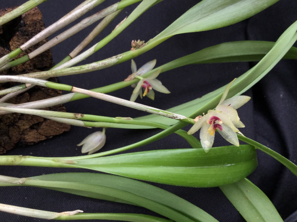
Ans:
[[[1,9],[0,17],[10,12],[12,9],[13,8]],[[17,49],[43,29],[44,23],[42,21],[42,14],[37,7],[3,25],[0,28],[0,56],[2,57]],[[26,50],[26,52],[18,55],[16,59],[34,51],[46,42],[47,39],[32,46]],[[48,70],[52,66],[53,58],[50,50],[48,50],[28,62],[0,72],[0,75],[19,75],[23,73],[40,72]],[[57,82],[56,78],[50,78],[49,80]],[[0,89],[7,89],[16,84],[19,83],[0,83]],[[60,90],[36,86],[5,102],[20,104],[60,95]],[[62,105],[49,107],[44,110],[66,112],[65,107]],[[70,126],[67,124],[58,123],[38,116],[18,113],[0,115],[0,154],[12,149],[16,144],[34,144],[69,130]]]

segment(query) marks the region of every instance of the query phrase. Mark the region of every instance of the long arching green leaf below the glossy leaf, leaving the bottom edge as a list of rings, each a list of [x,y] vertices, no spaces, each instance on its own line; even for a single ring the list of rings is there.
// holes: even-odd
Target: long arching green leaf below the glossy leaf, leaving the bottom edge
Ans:
[[[218,222],[199,207],[168,191],[129,178],[100,173],[56,173],[31,178],[38,179],[41,182],[30,181],[33,182],[30,186],[38,186],[103,200],[114,199],[117,202],[130,202],[146,207],[164,216],[168,212],[174,212],[173,216],[168,217],[174,218],[177,215],[178,217],[174,218],[174,221],[182,221],[182,219],[188,218],[190,221],[195,222]],[[37,183],[34,184],[34,182]],[[24,185],[0,183],[0,186]],[[108,199],[105,199],[105,197]],[[153,207],[155,205],[162,207],[163,211],[161,209],[158,210],[157,207],[153,209],[150,204]]]

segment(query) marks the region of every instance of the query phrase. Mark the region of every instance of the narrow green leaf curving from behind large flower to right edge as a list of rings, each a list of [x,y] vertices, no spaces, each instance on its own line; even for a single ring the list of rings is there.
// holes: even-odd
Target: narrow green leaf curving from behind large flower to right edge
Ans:
[[[295,176],[297,176],[297,166],[292,163],[290,160],[288,160],[287,158],[283,157],[282,155],[280,155],[279,153],[275,152],[274,150],[252,140],[249,139],[245,136],[239,135],[237,134],[238,139],[240,139],[241,141],[244,141],[252,146],[254,146],[256,149],[260,149],[261,151],[263,151],[264,153],[268,154],[269,156],[273,157],[274,159],[276,159],[277,161],[279,161],[279,163],[282,163],[284,166],[286,166]]]

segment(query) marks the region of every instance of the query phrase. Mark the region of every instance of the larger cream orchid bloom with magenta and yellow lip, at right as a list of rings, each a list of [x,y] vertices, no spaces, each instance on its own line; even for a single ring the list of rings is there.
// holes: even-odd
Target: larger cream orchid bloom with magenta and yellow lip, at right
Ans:
[[[208,110],[206,115],[200,116],[194,126],[188,131],[188,134],[193,134],[201,128],[200,142],[205,152],[208,152],[212,147],[216,130],[225,140],[235,146],[239,146],[236,133],[241,135],[242,133],[237,128],[244,127],[244,124],[239,120],[236,109],[247,103],[251,97],[234,96],[226,99],[232,82],[226,87],[216,109]]]

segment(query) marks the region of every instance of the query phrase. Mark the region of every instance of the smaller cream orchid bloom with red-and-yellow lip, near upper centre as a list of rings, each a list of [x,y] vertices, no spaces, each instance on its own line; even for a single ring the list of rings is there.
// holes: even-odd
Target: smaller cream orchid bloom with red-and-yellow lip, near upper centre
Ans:
[[[155,93],[153,89],[157,90],[158,92],[162,93],[170,93],[170,91],[162,85],[161,81],[157,80],[156,77],[160,74],[161,69],[153,72],[147,78],[141,78],[140,76],[151,71],[154,66],[156,65],[156,59],[147,62],[144,64],[140,69],[137,70],[136,64],[134,60],[131,61],[131,69],[133,74],[135,74],[135,78],[140,78],[140,81],[137,84],[132,84],[131,86],[134,87],[134,91],[131,95],[130,101],[135,102],[138,95],[142,99],[142,96],[147,96],[150,99],[155,99]],[[139,77],[138,77],[139,76]],[[143,89],[143,92],[142,92]]]

